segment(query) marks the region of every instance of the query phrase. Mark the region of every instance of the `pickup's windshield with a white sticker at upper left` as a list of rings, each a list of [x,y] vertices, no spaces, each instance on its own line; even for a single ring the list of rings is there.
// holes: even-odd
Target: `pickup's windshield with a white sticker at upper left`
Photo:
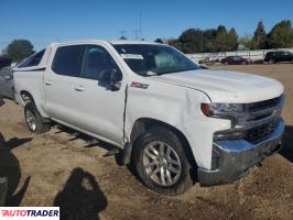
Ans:
[[[118,44],[113,47],[131,70],[141,76],[199,69],[194,62],[167,45]]]

